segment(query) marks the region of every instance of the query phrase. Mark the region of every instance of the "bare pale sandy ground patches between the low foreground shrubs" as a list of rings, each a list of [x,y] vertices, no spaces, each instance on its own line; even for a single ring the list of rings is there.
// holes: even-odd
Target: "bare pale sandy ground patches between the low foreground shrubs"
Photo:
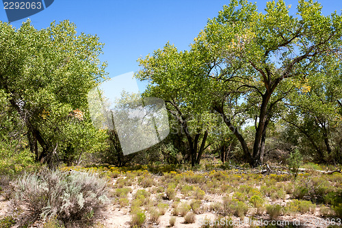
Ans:
[[[115,180],[113,181],[113,185],[114,183],[115,183]],[[139,186],[131,186],[131,188],[133,188],[133,192],[129,193],[128,195],[129,200],[133,198],[133,194],[137,191],[137,189],[141,189],[141,187]],[[153,197],[154,197],[154,194],[151,195],[151,198]],[[177,197],[181,199],[181,202],[190,203],[190,201],[192,201],[191,197],[184,197],[180,193],[177,194]],[[287,198],[289,198],[289,196]],[[205,199],[202,200],[202,205],[209,206],[213,202],[220,202],[220,201],[222,201],[222,196],[218,194],[206,194]],[[287,201],[289,201],[289,199],[285,199],[284,201],[283,200],[273,201],[272,203],[286,205]],[[172,213],[173,201],[163,200],[163,203],[169,204],[169,208],[166,211],[166,214],[159,217],[158,224],[153,224],[153,225],[150,225],[149,227],[170,227],[169,220],[172,217],[171,213]],[[10,202],[6,201],[3,196],[0,196],[0,218],[8,215],[9,205],[10,205]],[[118,205],[111,203],[107,207],[107,210],[105,210],[105,213],[103,214],[103,220],[101,220],[100,223],[105,225],[105,227],[107,228],[129,227],[130,226],[129,221],[131,220],[129,209],[130,209],[129,206],[120,208]],[[245,217],[245,223],[240,223],[239,218],[233,217],[233,221],[235,222],[234,223],[235,227],[252,227],[250,225],[251,224],[250,218],[252,217],[252,214],[254,214],[253,212],[254,212],[254,209],[250,209],[248,211],[248,214]],[[318,215],[319,215],[319,208],[317,207],[316,212],[313,214],[300,214],[298,216],[280,216],[279,218],[277,218],[277,221],[279,223],[278,225],[280,225],[280,223],[284,224],[285,221],[295,221],[296,224],[300,222],[300,224],[303,225],[302,227],[328,227],[328,225],[324,223],[324,219],[319,218]],[[258,218],[259,221],[260,220],[266,221],[269,219],[267,214],[263,214],[263,216],[254,216],[254,217]],[[183,217],[176,216],[176,223],[174,227],[179,227],[179,228],[201,227],[201,223],[205,222],[205,218],[208,218],[209,220],[214,222],[216,215],[207,211],[205,211],[203,214],[196,214],[196,222],[193,224],[185,224]],[[37,223],[36,225],[32,227],[42,227],[42,225],[39,225],[39,223]]]

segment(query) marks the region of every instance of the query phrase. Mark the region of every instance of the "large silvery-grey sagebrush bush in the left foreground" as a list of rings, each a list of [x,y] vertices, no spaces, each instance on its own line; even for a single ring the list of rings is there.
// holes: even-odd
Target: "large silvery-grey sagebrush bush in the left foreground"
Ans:
[[[64,225],[83,220],[91,223],[109,203],[106,185],[94,174],[43,168],[12,183],[12,208],[21,211],[21,224],[38,218],[56,218]]]

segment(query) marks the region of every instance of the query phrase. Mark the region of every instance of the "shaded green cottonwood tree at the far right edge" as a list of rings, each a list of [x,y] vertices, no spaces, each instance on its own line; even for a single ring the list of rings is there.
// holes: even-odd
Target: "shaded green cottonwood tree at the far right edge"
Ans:
[[[313,157],[332,162],[341,157],[342,68],[339,55],[324,58],[324,64],[308,75],[307,85],[289,95],[283,120],[304,136],[315,151]]]

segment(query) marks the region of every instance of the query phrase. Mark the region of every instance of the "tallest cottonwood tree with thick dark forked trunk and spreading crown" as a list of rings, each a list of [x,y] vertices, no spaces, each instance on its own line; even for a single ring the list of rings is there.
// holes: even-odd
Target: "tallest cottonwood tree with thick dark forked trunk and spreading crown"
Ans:
[[[224,118],[251,166],[262,163],[267,125],[295,88],[292,80],[305,84],[307,73],[317,70],[328,53],[330,58],[341,53],[341,14],[324,16],[313,1],[300,0],[298,16],[291,16],[289,8],[283,1],[270,1],[263,14],[255,4],[231,1],[192,45],[209,69],[201,76],[217,85],[211,93],[222,91],[212,96],[213,108],[226,116],[227,101],[238,97],[234,112],[249,110],[246,113],[255,120],[250,148],[231,118]]]

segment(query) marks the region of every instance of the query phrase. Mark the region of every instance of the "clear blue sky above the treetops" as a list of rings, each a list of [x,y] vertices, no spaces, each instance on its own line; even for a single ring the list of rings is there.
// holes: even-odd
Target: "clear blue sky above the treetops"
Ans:
[[[10,0],[9,0],[10,1]],[[298,1],[285,1],[295,12]],[[321,0],[324,14],[334,10],[341,12],[341,0]],[[136,60],[170,41],[176,47],[188,49],[189,44],[203,29],[208,18],[217,16],[223,0],[174,0],[174,1],[117,1],[117,0],[55,0],[46,10],[29,16],[32,24],[41,29],[52,21],[69,21],[77,25],[77,31],[97,34],[105,43],[101,60],[107,61],[109,77],[137,71]],[[2,5],[2,4],[0,4]],[[266,1],[257,1],[263,10]],[[20,27],[23,21],[12,23]],[[3,7],[0,21],[8,21]],[[141,85],[140,85],[141,87]]]

